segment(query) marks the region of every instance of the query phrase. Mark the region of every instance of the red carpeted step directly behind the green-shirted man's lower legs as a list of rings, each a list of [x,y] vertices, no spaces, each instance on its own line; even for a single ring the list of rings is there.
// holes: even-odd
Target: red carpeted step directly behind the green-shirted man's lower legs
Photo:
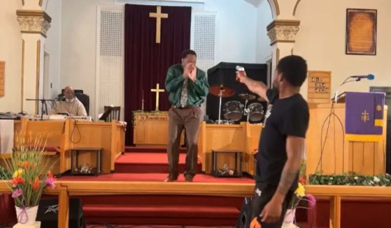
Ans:
[[[186,154],[180,153],[178,172],[185,172]],[[115,161],[115,173],[167,173],[169,170],[166,153],[124,153]],[[201,162],[197,165],[198,172],[201,172]]]

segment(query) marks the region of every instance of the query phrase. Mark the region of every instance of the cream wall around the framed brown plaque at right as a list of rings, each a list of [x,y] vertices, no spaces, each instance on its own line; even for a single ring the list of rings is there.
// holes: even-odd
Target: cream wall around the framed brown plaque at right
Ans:
[[[376,56],[345,54],[347,8],[378,10]],[[340,91],[369,91],[369,86],[391,86],[391,1],[301,1],[296,16],[301,24],[294,54],[307,60],[308,70],[332,71],[332,94],[350,75],[374,73],[376,78],[346,84]],[[306,86],[301,91],[305,97]]]

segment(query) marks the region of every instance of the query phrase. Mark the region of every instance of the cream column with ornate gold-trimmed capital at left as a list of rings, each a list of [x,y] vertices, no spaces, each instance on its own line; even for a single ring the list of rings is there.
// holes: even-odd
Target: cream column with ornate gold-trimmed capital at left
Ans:
[[[43,96],[43,47],[52,18],[41,10],[42,0],[24,0],[17,10],[22,33],[22,112],[38,114],[38,101]]]

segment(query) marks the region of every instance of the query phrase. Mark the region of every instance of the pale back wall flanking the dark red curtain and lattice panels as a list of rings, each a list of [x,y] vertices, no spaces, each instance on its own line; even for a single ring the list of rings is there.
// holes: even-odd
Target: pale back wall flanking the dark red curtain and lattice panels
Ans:
[[[141,1],[129,1],[141,3]],[[173,5],[156,1],[144,4]],[[97,6],[114,6],[113,0],[62,1],[60,87],[71,85],[90,95],[95,113]],[[181,3],[180,5],[183,5]],[[194,4],[192,4],[194,5]],[[206,0],[194,10],[218,12],[216,63],[255,63],[257,8],[243,0]],[[122,6],[122,5],[116,5]]]

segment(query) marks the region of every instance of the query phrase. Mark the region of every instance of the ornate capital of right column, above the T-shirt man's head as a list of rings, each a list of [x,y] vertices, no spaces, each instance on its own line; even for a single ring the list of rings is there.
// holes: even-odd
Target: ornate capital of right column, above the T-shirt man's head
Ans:
[[[273,20],[267,26],[267,35],[271,40],[273,53],[272,70],[276,68],[281,58],[293,54],[294,40],[299,31],[299,25],[299,20]]]

